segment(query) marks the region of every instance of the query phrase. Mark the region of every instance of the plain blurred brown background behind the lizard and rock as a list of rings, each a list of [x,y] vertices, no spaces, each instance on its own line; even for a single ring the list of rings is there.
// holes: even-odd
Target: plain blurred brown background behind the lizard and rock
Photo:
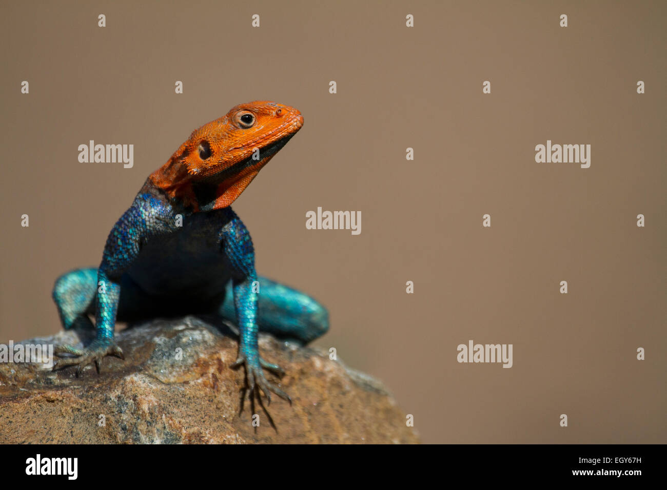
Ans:
[[[58,331],[53,281],[99,264],[145,177],[269,99],[305,126],[234,205],[257,270],[329,307],[316,344],[424,441],[667,442],[664,2],[2,5],[0,342]],[[134,167],[79,163],[89,139]],[[590,169],[536,163],[547,139],[590,143]],[[362,234],[305,229],[317,206]],[[457,363],[469,339],[514,367]]]

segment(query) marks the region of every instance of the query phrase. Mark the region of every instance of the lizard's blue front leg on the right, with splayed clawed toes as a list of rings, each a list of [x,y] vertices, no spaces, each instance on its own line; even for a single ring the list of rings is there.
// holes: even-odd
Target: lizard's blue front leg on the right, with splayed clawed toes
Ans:
[[[252,397],[257,387],[263,391],[271,403],[271,391],[289,401],[291,399],[277,386],[269,383],[264,377],[262,368],[277,374],[283,370],[275,364],[264,361],[259,356],[257,343],[257,293],[253,291],[253,283],[257,281],[255,271],[255,251],[252,240],[245,225],[239,217],[229,209],[230,219],[221,229],[219,238],[221,248],[231,267],[232,291],[236,320],[240,330],[239,355],[232,367],[245,366],[245,377],[249,395]],[[257,392],[258,393],[258,392]]]

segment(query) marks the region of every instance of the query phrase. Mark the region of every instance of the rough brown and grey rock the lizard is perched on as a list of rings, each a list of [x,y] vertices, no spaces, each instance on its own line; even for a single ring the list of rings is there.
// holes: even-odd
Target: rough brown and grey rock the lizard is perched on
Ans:
[[[22,343],[80,346],[87,335]],[[0,443],[419,442],[379,381],[324,351],[260,335],[263,357],[287,373],[279,384],[292,406],[273,395],[254,411],[246,399],[239,413],[243,368],[229,369],[237,343],[219,327],[196,317],[155,320],[117,340],[125,360],[105,357],[101,375],[94,365],[77,378],[76,367],[0,363]]]

